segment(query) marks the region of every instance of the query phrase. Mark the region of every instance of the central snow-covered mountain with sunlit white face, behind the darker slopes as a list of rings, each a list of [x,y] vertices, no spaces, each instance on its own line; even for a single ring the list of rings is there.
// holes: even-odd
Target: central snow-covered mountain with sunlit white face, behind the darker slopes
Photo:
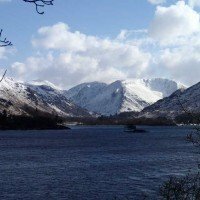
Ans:
[[[183,86],[167,79],[133,79],[111,84],[92,82],[73,87],[65,96],[82,108],[108,116],[139,112],[180,87]]]

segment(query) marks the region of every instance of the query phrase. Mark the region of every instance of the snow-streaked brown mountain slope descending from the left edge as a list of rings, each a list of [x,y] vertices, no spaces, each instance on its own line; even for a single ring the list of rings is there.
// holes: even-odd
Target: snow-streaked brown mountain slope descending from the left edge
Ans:
[[[30,84],[5,78],[0,83],[0,111],[14,115],[32,115],[37,112],[60,116],[88,116],[88,112],[69,101],[60,90],[49,84]]]

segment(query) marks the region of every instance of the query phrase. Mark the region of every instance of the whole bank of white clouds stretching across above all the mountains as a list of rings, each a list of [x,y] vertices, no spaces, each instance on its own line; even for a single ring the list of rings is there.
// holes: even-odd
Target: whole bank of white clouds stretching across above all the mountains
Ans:
[[[112,39],[73,31],[62,22],[41,27],[31,41],[35,54],[13,63],[12,73],[63,88],[146,77],[192,85],[200,76],[200,17],[191,2],[157,6],[147,30],[122,30]]]

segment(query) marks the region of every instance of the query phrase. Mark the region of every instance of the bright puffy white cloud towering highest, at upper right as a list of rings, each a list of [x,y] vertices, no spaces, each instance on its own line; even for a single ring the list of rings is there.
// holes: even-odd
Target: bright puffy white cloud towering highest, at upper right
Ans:
[[[184,1],[169,7],[158,6],[149,35],[160,41],[167,42],[200,32],[200,16]]]

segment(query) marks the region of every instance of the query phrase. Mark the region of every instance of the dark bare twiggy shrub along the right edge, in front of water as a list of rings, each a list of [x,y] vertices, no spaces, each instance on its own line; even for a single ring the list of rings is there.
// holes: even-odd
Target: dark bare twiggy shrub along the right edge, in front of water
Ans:
[[[195,147],[200,147],[200,117],[187,110],[178,98],[179,105],[185,115],[189,117],[189,123],[193,124],[193,132],[187,136],[187,140]],[[200,165],[198,165],[200,168]],[[199,200],[200,199],[200,174],[193,173],[183,177],[171,177],[160,188],[160,198],[163,200]]]

